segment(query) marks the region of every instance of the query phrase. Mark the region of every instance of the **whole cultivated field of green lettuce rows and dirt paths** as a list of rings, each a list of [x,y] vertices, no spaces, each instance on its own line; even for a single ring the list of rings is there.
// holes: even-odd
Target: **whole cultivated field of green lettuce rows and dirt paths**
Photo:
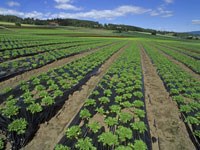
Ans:
[[[200,44],[0,29],[0,149],[200,149]]]

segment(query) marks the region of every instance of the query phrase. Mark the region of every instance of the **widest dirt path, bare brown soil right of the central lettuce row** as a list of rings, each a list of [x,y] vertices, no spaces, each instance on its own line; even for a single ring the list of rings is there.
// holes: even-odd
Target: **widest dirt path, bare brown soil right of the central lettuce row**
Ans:
[[[175,102],[141,48],[145,101],[153,150],[195,150]],[[155,140],[156,139],[156,140]]]

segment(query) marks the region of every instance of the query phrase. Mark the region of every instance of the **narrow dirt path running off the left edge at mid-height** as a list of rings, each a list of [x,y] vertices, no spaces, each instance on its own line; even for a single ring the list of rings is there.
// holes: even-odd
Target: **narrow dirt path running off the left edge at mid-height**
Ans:
[[[112,45],[112,44],[110,44]],[[3,81],[0,83],[0,91],[5,89],[5,88],[14,88],[15,86],[17,86],[21,81],[27,81],[29,80],[32,76],[37,76],[41,73],[44,73],[44,72],[47,72],[49,69],[53,69],[53,68],[57,68],[57,67],[60,67],[62,65],[65,65],[66,63],[69,63],[71,61],[74,61],[76,59],[79,59],[81,57],[84,57],[84,56],[87,56],[103,47],[106,47],[106,46],[110,46],[110,45],[105,45],[105,46],[101,46],[99,48],[94,48],[92,50],[89,50],[89,51],[86,51],[86,52],[83,52],[83,53],[80,53],[80,54],[77,54],[77,55],[74,55],[74,56],[70,56],[70,57],[67,57],[67,58],[63,58],[63,59],[60,59],[60,60],[57,60],[55,62],[52,62],[48,65],[45,65],[41,68],[38,68],[38,69],[34,69],[34,70],[31,70],[31,71],[28,71],[28,72],[25,72],[25,73],[22,73],[20,75],[17,75],[13,78],[10,78],[6,81]]]

